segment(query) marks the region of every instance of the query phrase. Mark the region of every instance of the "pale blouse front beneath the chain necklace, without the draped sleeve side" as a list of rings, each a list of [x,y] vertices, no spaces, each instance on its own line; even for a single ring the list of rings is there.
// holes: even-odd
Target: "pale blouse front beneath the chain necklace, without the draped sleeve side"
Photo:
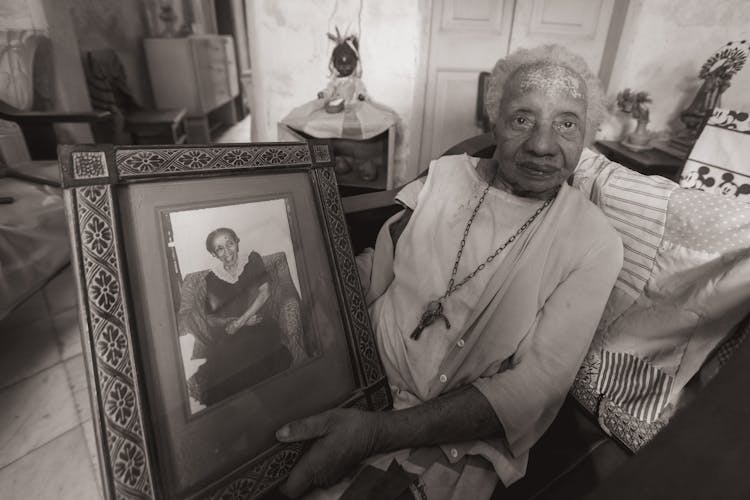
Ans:
[[[393,262],[393,282],[371,309],[374,329],[388,332],[381,336],[382,349],[389,357],[403,350],[408,358],[405,367],[409,373],[401,373],[401,377],[409,379],[409,386],[421,400],[440,392],[440,386],[432,382],[439,378],[442,360],[466,332],[467,321],[490,278],[517,244],[508,245],[484,269],[442,301],[450,328],[438,319],[422,332],[419,340],[409,338],[427,302],[441,297],[447,289],[467,222],[487,186],[476,171],[478,161],[478,158],[466,157],[466,161],[459,161],[455,168],[440,168],[412,197],[413,223],[399,241]],[[445,189],[447,186],[450,190]],[[436,196],[430,196],[433,193]],[[404,193],[402,199],[407,198],[406,195]],[[455,282],[485,263],[542,204],[542,200],[490,189],[469,228]],[[425,267],[429,267],[429,272],[425,272]]]

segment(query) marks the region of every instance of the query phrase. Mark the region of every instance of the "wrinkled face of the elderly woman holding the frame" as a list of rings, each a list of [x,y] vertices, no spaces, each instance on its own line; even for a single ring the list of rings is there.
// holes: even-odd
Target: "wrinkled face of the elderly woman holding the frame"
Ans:
[[[498,180],[547,198],[573,173],[586,132],[586,86],[550,64],[522,68],[505,85],[495,127]]]

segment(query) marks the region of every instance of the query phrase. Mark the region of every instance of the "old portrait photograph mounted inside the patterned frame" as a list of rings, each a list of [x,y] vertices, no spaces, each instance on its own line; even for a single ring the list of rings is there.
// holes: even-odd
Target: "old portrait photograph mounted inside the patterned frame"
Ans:
[[[315,351],[302,326],[305,298],[288,214],[285,199],[168,214],[191,414],[288,370]]]

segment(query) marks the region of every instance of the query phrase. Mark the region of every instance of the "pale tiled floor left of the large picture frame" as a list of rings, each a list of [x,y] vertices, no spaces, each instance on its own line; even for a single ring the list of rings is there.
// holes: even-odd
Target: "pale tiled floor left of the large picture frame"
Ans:
[[[0,321],[0,498],[99,499],[73,274]]]

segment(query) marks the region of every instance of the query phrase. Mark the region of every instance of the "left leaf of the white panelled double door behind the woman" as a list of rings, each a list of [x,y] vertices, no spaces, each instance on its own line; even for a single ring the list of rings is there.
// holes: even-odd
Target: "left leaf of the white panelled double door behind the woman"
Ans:
[[[479,73],[508,52],[514,0],[434,0],[419,162],[424,170],[454,144],[481,132]]]

